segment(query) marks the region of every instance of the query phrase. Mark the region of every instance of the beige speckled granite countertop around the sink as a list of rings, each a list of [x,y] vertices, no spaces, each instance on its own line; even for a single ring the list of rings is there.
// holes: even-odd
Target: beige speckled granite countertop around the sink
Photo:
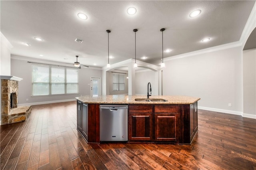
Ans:
[[[92,97],[90,95],[76,97],[83,103],[94,104],[192,104],[200,100],[198,97],[190,96],[150,96],[149,99],[165,99],[167,101],[135,101],[135,99],[147,99],[146,95],[103,95]]]

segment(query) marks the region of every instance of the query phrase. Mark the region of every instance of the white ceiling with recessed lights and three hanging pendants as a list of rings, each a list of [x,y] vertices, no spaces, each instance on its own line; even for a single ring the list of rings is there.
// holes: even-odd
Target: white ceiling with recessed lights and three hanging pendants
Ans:
[[[11,54],[105,67],[134,58],[134,32],[138,60],[159,65],[170,57],[239,41],[255,1],[0,1],[1,32],[13,45]],[[128,7],[137,13],[127,14]],[[200,9],[198,17],[190,12]],[[81,20],[77,14],[88,16]],[[38,42],[34,37],[44,41]],[[76,38],[84,40],[75,42]],[[204,38],[211,38],[203,43]],[[25,46],[23,43],[30,43]],[[44,55],[40,57],[39,55]],[[146,60],[141,57],[148,57]],[[96,65],[94,65],[96,64]]]

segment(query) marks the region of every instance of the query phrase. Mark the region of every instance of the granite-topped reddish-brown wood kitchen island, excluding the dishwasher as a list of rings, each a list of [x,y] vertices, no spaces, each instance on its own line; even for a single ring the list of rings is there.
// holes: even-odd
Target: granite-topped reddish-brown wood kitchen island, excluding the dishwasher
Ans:
[[[77,129],[88,143],[100,143],[100,105],[128,105],[128,142],[191,144],[198,131],[200,98],[87,95],[76,99]]]

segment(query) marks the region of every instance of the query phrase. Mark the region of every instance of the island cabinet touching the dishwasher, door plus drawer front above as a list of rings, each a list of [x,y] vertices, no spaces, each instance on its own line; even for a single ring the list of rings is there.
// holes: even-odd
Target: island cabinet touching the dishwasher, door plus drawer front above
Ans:
[[[151,141],[153,139],[152,105],[129,106],[128,140]]]

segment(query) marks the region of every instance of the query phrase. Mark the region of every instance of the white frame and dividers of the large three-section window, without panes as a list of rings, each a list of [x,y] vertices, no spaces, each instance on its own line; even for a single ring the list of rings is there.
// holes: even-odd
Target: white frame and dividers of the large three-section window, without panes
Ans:
[[[36,66],[36,67],[47,67],[49,69],[49,82],[48,83],[45,83],[45,82],[34,82],[34,79],[33,79],[33,67]],[[52,94],[52,84],[56,84],[56,83],[53,83],[52,82],[52,68],[61,68],[61,69],[64,69],[64,93],[60,93],[60,94]],[[32,95],[31,97],[41,97],[41,96],[56,96],[56,95],[73,95],[73,94],[79,94],[79,71],[78,69],[76,68],[70,68],[70,67],[54,67],[54,66],[51,66],[51,65],[40,65],[40,64],[32,64]],[[77,71],[77,83],[67,83],[67,69],[73,69],[73,70],[76,70]],[[34,95],[34,89],[33,89],[33,85],[34,84],[37,84],[37,83],[44,83],[44,84],[48,84],[49,85],[49,94],[47,95]],[[60,84],[63,84],[63,83],[60,83]],[[77,92],[76,93],[67,93],[67,84],[77,84]]]

